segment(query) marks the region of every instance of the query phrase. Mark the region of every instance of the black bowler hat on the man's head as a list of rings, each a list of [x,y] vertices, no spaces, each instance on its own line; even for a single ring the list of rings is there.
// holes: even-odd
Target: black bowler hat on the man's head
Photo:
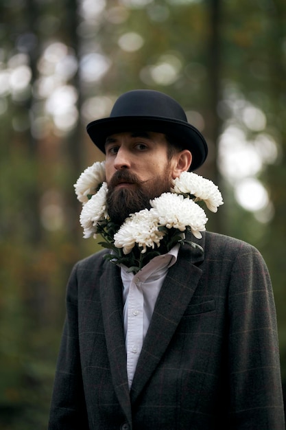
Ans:
[[[90,122],[86,130],[93,143],[105,153],[106,137],[128,131],[164,133],[193,159],[190,170],[202,166],[208,146],[200,131],[187,122],[182,106],[159,91],[136,89],[122,94],[112,108],[110,117]]]

